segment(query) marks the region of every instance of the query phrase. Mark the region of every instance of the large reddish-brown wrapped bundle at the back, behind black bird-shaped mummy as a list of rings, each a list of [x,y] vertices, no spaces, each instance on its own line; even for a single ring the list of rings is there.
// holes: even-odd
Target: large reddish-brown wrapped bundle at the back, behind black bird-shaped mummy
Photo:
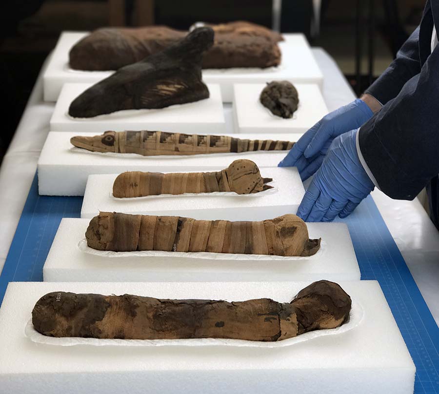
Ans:
[[[203,57],[203,68],[279,65],[279,33],[245,21],[208,26],[215,42]],[[69,64],[75,70],[118,70],[163,51],[186,34],[166,26],[98,29],[72,47]]]

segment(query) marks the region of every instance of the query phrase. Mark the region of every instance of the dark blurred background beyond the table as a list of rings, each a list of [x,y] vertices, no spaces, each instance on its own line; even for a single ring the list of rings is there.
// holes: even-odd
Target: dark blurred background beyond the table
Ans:
[[[320,29],[313,27],[312,0],[283,0],[281,32],[303,32],[311,45],[335,58],[357,92],[395,56],[420,21],[425,0],[322,0]],[[195,21],[249,20],[272,26],[270,0],[11,0],[0,6],[2,127],[0,160],[11,141],[41,66],[63,30],[165,24],[187,29]],[[371,11],[372,10],[372,14]],[[373,25],[370,24],[373,15]],[[356,35],[359,32],[359,36]],[[373,38],[373,73],[368,43]],[[356,60],[359,43],[361,61]],[[358,64],[361,64],[359,75]]]

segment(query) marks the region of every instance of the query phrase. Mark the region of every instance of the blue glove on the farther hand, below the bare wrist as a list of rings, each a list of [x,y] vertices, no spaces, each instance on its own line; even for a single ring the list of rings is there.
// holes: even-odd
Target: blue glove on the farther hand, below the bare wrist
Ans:
[[[279,167],[297,167],[302,181],[320,167],[334,138],[344,132],[358,129],[373,115],[369,106],[359,98],[328,113],[294,144]]]

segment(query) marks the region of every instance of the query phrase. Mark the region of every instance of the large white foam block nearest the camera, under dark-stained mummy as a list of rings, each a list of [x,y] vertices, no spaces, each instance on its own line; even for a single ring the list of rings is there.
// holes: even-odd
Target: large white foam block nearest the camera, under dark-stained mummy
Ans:
[[[51,346],[24,327],[53,291],[171,299],[292,300],[309,282],[11,282],[0,309],[0,387],[20,394],[412,394],[415,366],[376,281],[339,284],[364,308],[352,330],[274,349]]]

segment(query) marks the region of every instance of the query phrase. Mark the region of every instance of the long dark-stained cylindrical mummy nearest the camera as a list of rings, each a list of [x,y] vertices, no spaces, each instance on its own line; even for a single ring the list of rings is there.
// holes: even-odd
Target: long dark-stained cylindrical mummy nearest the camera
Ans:
[[[337,328],[349,318],[351,304],[339,284],[330,281],[314,282],[284,303],[268,298],[227,302],[54,292],[37,301],[32,323],[42,335],[59,338],[268,342]]]

